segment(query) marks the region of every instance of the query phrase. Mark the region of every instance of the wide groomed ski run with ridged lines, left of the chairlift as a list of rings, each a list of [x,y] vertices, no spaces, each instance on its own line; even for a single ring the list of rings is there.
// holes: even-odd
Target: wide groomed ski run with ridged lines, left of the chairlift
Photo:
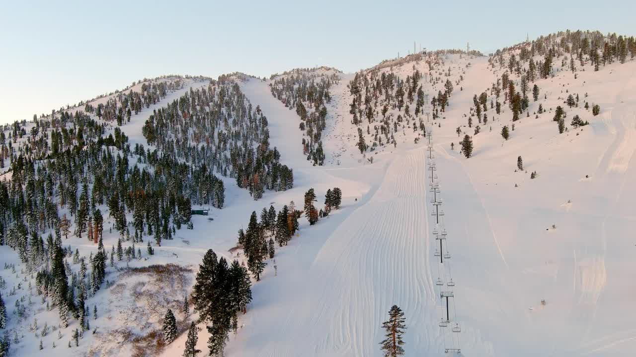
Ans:
[[[373,356],[393,304],[413,330],[406,334],[410,351],[424,353],[436,344],[424,163],[423,149],[392,161],[375,194],[329,234],[303,281],[292,286],[300,292],[296,304],[277,326],[259,326],[279,330],[281,339],[249,343],[245,354]]]

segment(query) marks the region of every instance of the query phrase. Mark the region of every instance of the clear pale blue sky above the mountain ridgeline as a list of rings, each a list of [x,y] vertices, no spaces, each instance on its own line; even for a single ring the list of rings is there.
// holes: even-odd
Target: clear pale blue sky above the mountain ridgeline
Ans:
[[[0,123],[143,77],[345,72],[422,48],[485,53],[565,29],[636,36],[634,1],[3,1]]]

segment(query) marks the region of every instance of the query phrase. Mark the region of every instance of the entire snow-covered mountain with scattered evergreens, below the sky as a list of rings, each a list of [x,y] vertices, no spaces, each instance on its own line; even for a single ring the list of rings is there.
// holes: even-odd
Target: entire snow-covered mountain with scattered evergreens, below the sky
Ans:
[[[167,76],[4,126],[8,353],[181,356],[195,321],[207,354],[213,250],[254,273],[226,356],[381,356],[393,305],[407,355],[630,356],[634,55],[568,31],[353,74]],[[88,312],[68,327],[60,266]]]

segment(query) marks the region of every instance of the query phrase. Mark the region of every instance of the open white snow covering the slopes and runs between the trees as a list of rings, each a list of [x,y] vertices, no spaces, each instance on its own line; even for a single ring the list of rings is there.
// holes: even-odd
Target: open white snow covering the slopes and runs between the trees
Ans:
[[[393,71],[404,79],[412,65]],[[428,72],[424,62],[418,65],[420,71]],[[254,301],[247,314],[240,315],[239,332],[230,336],[226,356],[380,356],[380,325],[394,304],[405,313],[404,349],[410,356],[443,356],[445,347],[460,347],[467,356],[632,356],[636,349],[632,308],[636,285],[631,283],[636,264],[632,234],[636,230],[632,206],[636,200],[632,184],[636,177],[632,163],[636,62],[609,65],[598,72],[588,66],[577,72],[577,79],[563,69],[553,78],[537,81],[541,95],[538,102],[530,102],[530,118],[516,121],[504,142],[500,131],[502,125],[511,125],[508,106],[503,105],[501,116],[489,109],[489,125],[474,135],[469,159],[459,153],[455,129],[462,126],[473,134],[473,128],[465,127],[464,114],[473,105],[473,95],[490,88],[501,71],[495,74],[485,57],[452,55],[443,68],[449,66],[453,76],[462,74],[464,80],[461,90],[456,86],[453,91],[443,118],[434,125],[426,123],[427,131],[433,133],[434,160],[427,156],[426,140],[415,144],[413,137],[418,133],[409,130],[401,140],[396,135],[397,147],[387,145],[366,152],[363,158],[356,147],[357,128],[350,123],[347,84],[352,75],[344,74],[331,89],[333,100],[323,134],[328,165],[312,166],[301,150],[296,113],[272,97],[268,81],[245,81],[241,84],[245,95],[268,118],[271,145],[278,147],[281,163],[294,170],[294,188],[267,191],[253,201],[228,179],[226,207],[211,211],[214,220],[194,216],[193,231],[178,231],[176,239],[156,248],[155,256],[130,266],[171,262],[191,269],[190,278],[179,281],[175,291],[164,292],[167,307],[172,300],[183,299],[205,250],[212,248],[230,257],[236,232],[247,226],[253,210],[259,212],[270,204],[279,210],[292,200],[301,205],[309,187],[322,203],[327,189],[340,187],[340,210],[312,227],[303,217],[298,236],[277,249],[276,275],[268,260],[261,281],[252,286]],[[424,84],[424,91],[434,95],[441,85]],[[583,105],[570,111],[563,104],[566,89],[579,93],[590,105],[600,104],[600,115],[592,116]],[[186,90],[189,86],[162,103]],[[534,118],[539,103],[546,113]],[[552,121],[556,105],[568,112],[567,124],[579,113],[590,125],[558,134]],[[133,144],[145,144],[141,126],[152,109],[144,109],[123,126]],[[373,163],[368,161],[371,155]],[[515,170],[518,156],[523,158],[523,171]],[[436,163],[440,183],[438,195],[445,212],[441,227],[448,231],[452,269],[433,255],[438,244],[432,234],[435,217],[431,216],[434,208],[426,170],[431,161]],[[531,180],[534,171],[537,178]],[[116,234],[104,232],[104,238],[109,249]],[[5,262],[18,261],[9,250],[1,253]],[[0,274],[9,287],[15,283],[11,269]],[[438,278],[445,282],[452,278],[456,283],[451,320],[460,324],[460,333],[438,327],[445,313],[435,284]],[[133,298],[132,287],[143,279],[128,276],[122,281],[128,288],[115,285],[100,290],[90,300],[100,308],[92,325],[124,325],[134,317],[130,311],[137,306],[155,303]],[[112,301],[115,294],[122,294],[117,304]],[[11,297],[4,292],[3,297],[13,306]],[[57,323],[55,313],[41,307],[35,311],[40,326],[46,318],[49,325]],[[149,320],[156,321],[162,313],[163,307]],[[24,322],[25,335],[29,333],[26,324],[34,316]],[[181,320],[179,314],[177,320]],[[139,319],[133,322],[140,323]],[[48,338],[57,339],[57,332]],[[181,356],[185,339],[181,335],[162,355]],[[66,340],[67,336],[55,353],[85,355],[88,348],[67,349]],[[203,328],[198,348],[204,353],[206,341]],[[45,344],[49,346],[50,341],[45,339]],[[13,351],[36,355],[37,342],[32,346],[22,342]],[[121,349],[111,354],[127,353]]]

